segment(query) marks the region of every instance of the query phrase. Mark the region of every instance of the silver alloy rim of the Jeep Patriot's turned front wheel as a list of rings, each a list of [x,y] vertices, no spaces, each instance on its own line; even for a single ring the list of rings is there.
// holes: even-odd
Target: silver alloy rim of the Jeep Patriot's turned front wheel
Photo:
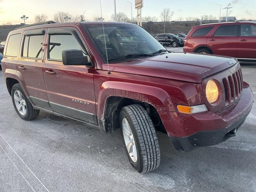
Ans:
[[[138,159],[137,148],[136,148],[134,136],[132,134],[132,130],[126,118],[123,118],[122,120],[122,130],[123,130],[124,142],[125,142],[125,146],[128,151],[128,154],[132,159],[132,161],[136,163]]]

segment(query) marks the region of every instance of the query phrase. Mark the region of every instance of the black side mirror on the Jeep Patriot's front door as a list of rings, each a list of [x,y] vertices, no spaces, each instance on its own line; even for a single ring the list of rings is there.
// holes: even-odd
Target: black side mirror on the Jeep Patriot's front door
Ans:
[[[93,67],[92,62],[88,62],[88,57],[84,56],[81,50],[70,49],[62,51],[62,62],[64,65],[85,65]]]

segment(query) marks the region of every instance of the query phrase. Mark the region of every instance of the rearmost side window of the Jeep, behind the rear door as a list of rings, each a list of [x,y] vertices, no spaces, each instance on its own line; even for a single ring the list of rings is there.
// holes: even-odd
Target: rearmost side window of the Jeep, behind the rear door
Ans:
[[[11,35],[8,40],[8,44],[6,48],[6,56],[17,57],[19,43],[20,43],[20,34]]]

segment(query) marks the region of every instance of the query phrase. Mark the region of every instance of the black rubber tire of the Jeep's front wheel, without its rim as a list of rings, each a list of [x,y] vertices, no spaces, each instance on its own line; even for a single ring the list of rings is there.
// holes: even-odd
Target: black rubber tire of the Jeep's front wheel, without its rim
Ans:
[[[138,156],[136,162],[131,159],[126,148],[122,128],[122,120],[124,118],[127,119],[130,125],[136,144]],[[119,120],[126,153],[134,169],[140,173],[156,169],[160,164],[160,148],[156,130],[146,110],[138,104],[125,106],[120,111]]]

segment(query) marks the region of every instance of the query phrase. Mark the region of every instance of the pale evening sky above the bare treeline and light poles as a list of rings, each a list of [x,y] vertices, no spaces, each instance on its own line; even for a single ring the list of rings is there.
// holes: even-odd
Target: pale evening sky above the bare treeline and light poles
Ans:
[[[114,0],[101,0],[102,14],[105,20],[110,20],[114,13]],[[133,16],[136,15],[134,0],[130,0],[133,6]],[[142,16],[156,16],[160,20],[160,12],[163,8],[169,7],[174,10],[172,20],[179,17],[198,17],[202,15],[216,16],[220,14],[222,8],[231,3],[229,16],[236,16],[238,19],[256,19],[256,0],[144,0]],[[69,12],[71,15],[80,15],[85,12],[87,20],[100,16],[100,0],[0,0],[0,24],[12,22],[18,24],[22,22],[21,16],[28,16],[27,23],[34,22],[36,14],[44,13],[48,20],[53,19],[54,13],[58,11]],[[116,0],[116,11],[124,12],[131,17],[130,4],[127,0]],[[222,16],[226,16],[226,10],[222,9]]]

